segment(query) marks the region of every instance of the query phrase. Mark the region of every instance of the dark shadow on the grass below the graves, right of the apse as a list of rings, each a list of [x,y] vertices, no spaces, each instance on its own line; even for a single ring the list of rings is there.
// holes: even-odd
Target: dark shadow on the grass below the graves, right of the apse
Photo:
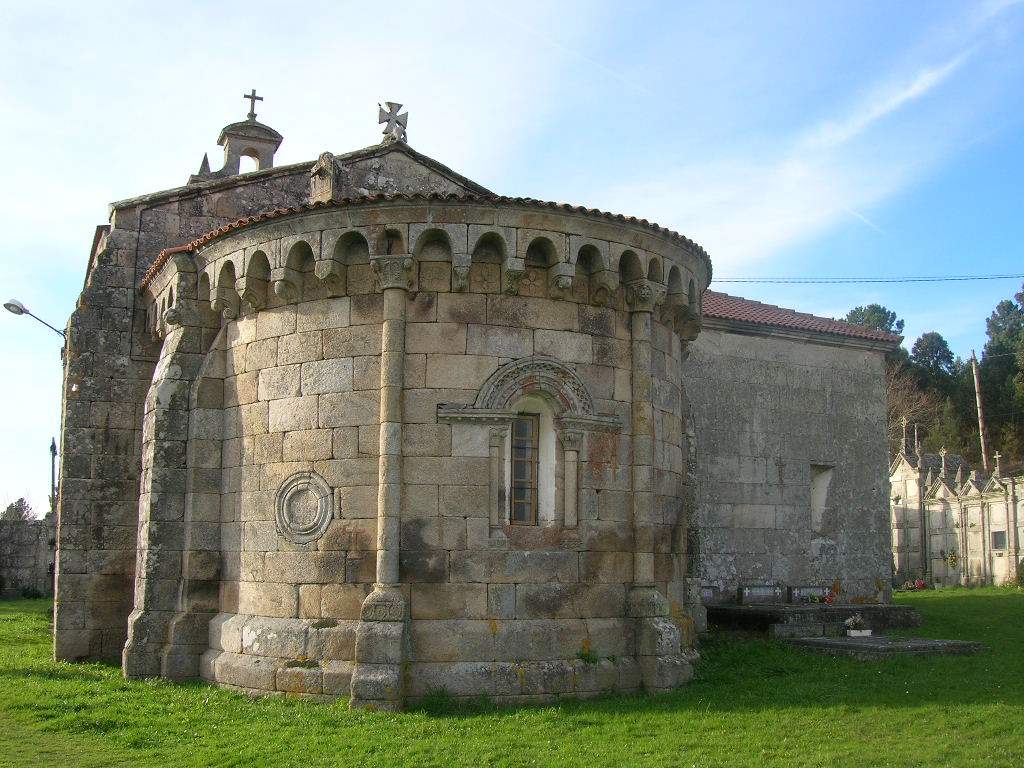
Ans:
[[[763,709],[906,709],[949,700],[957,705],[1024,705],[1024,594],[1013,589],[956,590],[901,599],[923,614],[909,636],[978,640],[973,655],[897,656],[870,662],[798,649],[763,636],[713,632],[702,637],[694,679],[671,693],[608,694],[564,699],[530,709],[557,709],[579,722],[588,713],[706,714]],[[521,708],[520,708],[521,709]],[[457,700],[437,691],[415,711],[438,718],[475,718],[509,712],[486,698]]]

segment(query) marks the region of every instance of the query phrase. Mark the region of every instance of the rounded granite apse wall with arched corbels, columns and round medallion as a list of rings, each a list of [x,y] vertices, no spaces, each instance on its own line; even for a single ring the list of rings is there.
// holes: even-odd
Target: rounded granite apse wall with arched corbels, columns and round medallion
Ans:
[[[443,202],[167,260],[126,673],[377,707],[684,681],[677,323],[702,268],[629,227]],[[507,496],[523,409],[550,440],[527,526]]]

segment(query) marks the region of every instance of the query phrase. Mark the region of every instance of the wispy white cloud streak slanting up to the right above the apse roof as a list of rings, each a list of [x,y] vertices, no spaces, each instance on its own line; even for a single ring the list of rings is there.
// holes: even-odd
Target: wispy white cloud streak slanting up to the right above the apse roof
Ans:
[[[970,95],[944,111],[926,97],[966,72],[984,43],[979,27],[972,24],[953,41],[956,52],[884,78],[835,117],[799,127],[774,144],[762,141],[724,160],[658,169],[656,180],[611,185],[598,203],[642,212],[694,238],[722,275],[847,216],[884,233],[864,211],[963,148],[964,126],[976,117]]]

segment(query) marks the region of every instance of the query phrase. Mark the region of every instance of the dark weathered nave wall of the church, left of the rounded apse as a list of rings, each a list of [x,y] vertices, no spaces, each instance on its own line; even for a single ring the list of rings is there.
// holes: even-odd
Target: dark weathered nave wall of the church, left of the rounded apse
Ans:
[[[164,248],[308,197],[311,164],[112,206],[68,323],[54,655],[121,657],[133,605],[143,401],[160,346],[138,287]]]

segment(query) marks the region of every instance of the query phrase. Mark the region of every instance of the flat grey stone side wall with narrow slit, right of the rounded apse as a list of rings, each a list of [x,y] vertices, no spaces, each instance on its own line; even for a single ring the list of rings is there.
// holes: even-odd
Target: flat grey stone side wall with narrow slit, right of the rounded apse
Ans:
[[[888,595],[892,570],[883,349],[710,327],[684,381],[698,453],[706,599],[743,583]]]

